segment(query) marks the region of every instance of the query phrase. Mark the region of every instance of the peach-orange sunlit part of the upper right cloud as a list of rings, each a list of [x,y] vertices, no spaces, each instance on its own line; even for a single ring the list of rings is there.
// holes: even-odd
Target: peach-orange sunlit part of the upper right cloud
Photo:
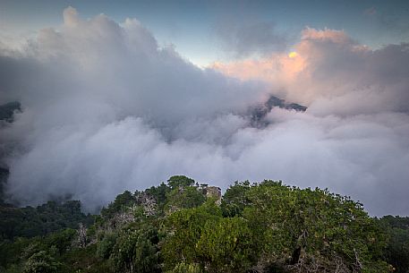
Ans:
[[[357,57],[371,52],[371,48],[355,42],[344,30],[306,28],[302,30],[300,41],[289,53],[277,53],[260,59],[232,63],[217,63],[212,67],[241,80],[266,81],[275,95],[309,106],[317,97],[341,95],[345,90],[354,88],[353,86],[346,88],[353,84],[349,81],[341,88],[337,80],[339,73],[326,79],[317,78],[315,70],[319,69],[321,64],[337,60],[338,53],[333,54],[337,50]],[[330,94],[328,90],[331,90]]]

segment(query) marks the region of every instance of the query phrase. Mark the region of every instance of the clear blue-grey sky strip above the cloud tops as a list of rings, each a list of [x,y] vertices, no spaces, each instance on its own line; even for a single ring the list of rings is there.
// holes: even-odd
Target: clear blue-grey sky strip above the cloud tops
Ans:
[[[409,3],[403,1],[0,1],[0,35],[25,37],[42,28],[58,27],[67,6],[83,18],[100,13],[115,21],[137,18],[155,33],[159,45],[175,46],[192,63],[206,66],[237,58],[221,31],[233,25],[267,23],[285,37],[291,50],[300,31],[345,30],[372,48],[409,40]],[[261,31],[261,30],[260,30]],[[248,52],[250,55],[251,52]],[[242,55],[243,56],[243,55]],[[248,55],[246,55],[248,56]]]

